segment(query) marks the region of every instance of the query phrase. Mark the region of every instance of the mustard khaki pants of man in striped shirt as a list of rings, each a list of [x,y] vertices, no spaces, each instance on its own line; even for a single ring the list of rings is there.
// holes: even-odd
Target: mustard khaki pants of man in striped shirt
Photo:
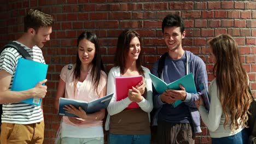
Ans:
[[[42,144],[44,140],[44,121],[33,124],[2,123],[2,144]]]

